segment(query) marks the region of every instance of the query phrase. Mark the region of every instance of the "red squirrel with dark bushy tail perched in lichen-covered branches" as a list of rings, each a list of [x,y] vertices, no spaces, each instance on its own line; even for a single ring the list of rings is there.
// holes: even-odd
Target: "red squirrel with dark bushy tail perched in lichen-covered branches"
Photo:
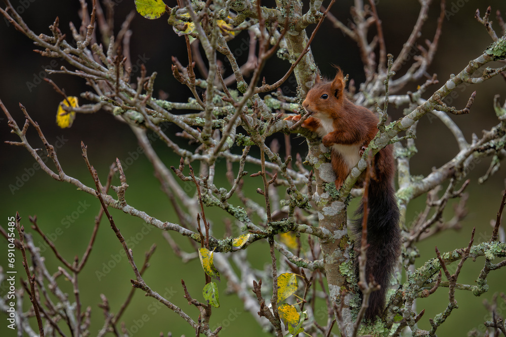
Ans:
[[[322,81],[316,76],[315,85],[309,90],[302,103],[311,114],[302,127],[316,132],[322,137],[324,146],[331,148],[331,163],[335,173],[335,187],[339,189],[351,169],[358,163],[364,149],[374,138],[378,129],[378,117],[370,110],[350,102],[345,91],[343,72],[332,81]],[[298,121],[301,116],[288,117]],[[395,198],[395,163],[392,145],[380,150],[372,160],[371,179],[368,187],[366,277],[372,275],[381,285],[372,292],[366,319],[381,315],[385,308],[385,297],[390,280],[400,254],[401,233],[399,229],[399,208]],[[365,174],[359,180],[363,181]],[[357,181],[360,186],[362,181]],[[355,247],[360,248],[362,236],[363,203],[356,214],[360,218],[354,222]],[[357,255],[357,254],[356,254]],[[358,261],[355,261],[358,275]]]

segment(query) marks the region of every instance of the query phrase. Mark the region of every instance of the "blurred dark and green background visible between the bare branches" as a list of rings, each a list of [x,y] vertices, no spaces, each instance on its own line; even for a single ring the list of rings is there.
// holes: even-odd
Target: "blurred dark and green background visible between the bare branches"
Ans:
[[[68,22],[72,21],[76,26],[79,24],[77,16],[79,3],[77,0],[52,2],[25,0],[12,3],[37,34],[40,32],[49,34],[48,26],[53,23],[56,16],[59,16],[60,27],[63,32],[67,33],[67,36],[71,36]],[[167,5],[172,7],[174,3],[167,2]],[[402,43],[406,41],[411,32],[412,25],[418,15],[419,4],[416,1],[387,0],[376,3],[379,15],[383,20],[387,51],[396,56]],[[123,18],[134,9],[134,2],[118,0],[115,1],[115,4],[115,32],[117,32]],[[264,2],[264,4],[267,3]],[[332,13],[346,23],[350,18],[349,7],[351,5],[351,1],[338,2],[334,5]],[[496,10],[500,10],[502,13],[506,12],[506,5],[499,0],[489,2],[459,0],[447,3],[448,12],[444,19],[440,47],[434,64],[429,69],[431,75],[432,73],[438,74],[442,83],[450,74],[458,73],[463,69],[469,60],[478,57],[492,42],[485,28],[474,19],[476,9],[480,9],[483,15],[488,5],[492,6],[491,17],[494,22],[496,21]],[[423,37],[418,39],[418,43],[423,43],[425,38],[432,40],[438,16],[439,3],[436,2],[431,6],[429,19],[422,30]],[[134,135],[126,125],[108,114],[101,112],[93,115],[78,115],[70,129],[62,130],[56,126],[56,109],[61,97],[47,83],[38,84],[38,82],[43,69],[48,67],[56,69],[56,67],[65,64],[56,59],[57,66],[54,67],[51,59],[40,57],[32,52],[33,44],[28,38],[17,32],[14,27],[9,26],[4,20],[0,21],[0,69],[2,74],[0,76],[0,99],[18,124],[22,125],[24,122],[24,117],[18,107],[18,104],[22,103],[32,118],[40,124],[51,143],[54,144],[56,141],[63,143],[57,153],[65,172],[90,186],[93,182],[80,155],[81,140],[88,145],[89,158],[99,172],[101,179],[106,178],[108,167],[116,158],[122,161],[126,161],[128,158],[135,159],[138,145]],[[500,34],[498,26],[495,25],[494,28]],[[145,62],[148,72],[158,72],[155,92],[163,90],[170,95],[169,100],[184,102],[184,98],[188,97],[189,92],[173,78],[170,70],[171,56],[178,57],[183,64],[186,64],[186,47],[183,39],[177,37],[172,27],[168,26],[163,18],[150,21],[136,16],[132,23],[132,29],[134,31],[131,43],[133,64],[144,60],[141,62]],[[312,27],[309,29],[311,30]],[[244,53],[240,55],[238,52],[241,44],[245,42],[247,42],[247,34],[244,32],[231,42],[231,49],[235,50],[239,63],[246,59]],[[325,23],[318,32],[312,50],[323,74],[332,76],[334,70],[331,64],[337,64],[346,73],[349,73],[356,83],[363,81],[364,75],[356,45],[349,38],[343,36],[340,31],[332,29],[330,23]],[[286,62],[275,58],[270,60],[264,70],[267,82],[273,82],[280,78],[287,68]],[[84,81],[79,78],[62,75],[53,75],[51,78],[60,87],[65,88],[69,95],[77,95],[79,92],[87,90]],[[421,83],[421,81],[412,83],[408,89],[415,90],[416,85]],[[432,92],[431,90],[435,90],[437,87],[439,86],[430,88],[428,92]],[[451,102],[447,99],[448,104],[461,109],[466,105],[472,91],[477,90],[471,113],[466,116],[451,116],[461,127],[468,141],[471,140],[472,132],[480,136],[482,129],[490,129],[491,126],[498,123],[493,112],[492,99],[495,94],[501,95],[501,101],[506,99],[505,87],[504,79],[497,76],[483,84],[467,87],[463,91],[460,91],[459,88],[458,97],[451,98]],[[288,85],[288,90],[294,92],[295,87]],[[424,97],[428,97],[428,95]],[[389,112],[394,119],[399,118],[402,114],[402,111],[395,109],[390,109]],[[169,128],[169,133],[179,131],[173,126],[169,126]],[[33,131],[33,128],[30,128],[28,132],[32,145],[43,147]],[[28,216],[36,215],[39,226],[48,236],[54,238],[55,245],[67,261],[71,261],[75,255],[82,256],[88,245],[94,218],[100,209],[98,201],[69,184],[54,181],[41,170],[31,170],[34,160],[26,150],[3,143],[4,140],[18,140],[15,135],[9,133],[5,118],[0,119],[0,133],[2,134],[2,144],[0,145],[2,221],[0,224],[6,228],[7,218],[19,212],[26,231],[33,233],[29,229]],[[421,120],[417,136],[418,154],[411,161],[413,174],[427,175],[432,167],[441,166],[458,150],[450,133],[437,119],[424,118]],[[153,146],[167,165],[179,163],[179,158],[173,156],[161,141],[155,141]],[[184,146],[191,149],[187,145]],[[302,138],[294,140],[293,146],[294,152],[300,151],[303,156],[307,153],[307,146]],[[466,246],[473,226],[476,226],[475,243],[488,240],[491,234],[489,222],[491,219],[495,219],[504,189],[503,171],[496,173],[483,185],[477,183],[478,177],[486,172],[489,162],[489,159],[482,159],[470,173],[472,182],[468,187],[470,193],[469,215],[462,222],[462,229],[436,235],[421,243],[418,246],[421,258],[417,265],[435,257],[434,246],[436,245],[441,252]],[[251,167],[249,171],[254,172],[255,168]],[[220,171],[217,170],[217,172]],[[126,192],[126,200],[130,205],[144,210],[158,219],[175,221],[176,216],[173,209],[160,190],[158,180],[153,176],[153,170],[145,157],[141,155],[138,159],[132,160],[132,164],[128,166],[125,174],[130,185]],[[27,176],[29,178],[26,179]],[[26,181],[23,181],[22,178]],[[223,177],[217,177],[217,184],[228,186],[225,179],[220,180],[221,178]],[[21,182],[18,179],[22,179]],[[17,182],[21,185],[20,188],[12,189],[12,185],[16,185]],[[117,179],[114,183],[118,183]],[[250,190],[254,190],[258,181],[249,178],[247,183],[251,184]],[[250,197],[260,202],[260,198],[256,194],[252,194]],[[424,206],[425,197],[420,197],[412,202],[408,209],[407,223],[414,220],[416,212],[423,210]],[[452,207],[449,205],[445,213],[446,219],[452,216],[451,210]],[[198,259],[183,264],[174,255],[158,229],[144,227],[145,224],[141,220],[126,216],[116,210],[111,210],[111,214],[124,237],[133,238],[131,248],[138,265],[144,258],[144,252],[153,243],[157,244],[156,253],[151,259],[151,267],[144,277],[146,282],[153,290],[182,307],[196,320],[198,318],[197,310],[194,307],[189,307],[183,298],[181,279],[185,280],[190,294],[202,300],[200,293],[203,286],[203,273]],[[206,215],[216,224],[215,231],[217,233],[223,232],[219,226],[223,223],[222,220],[226,214],[217,209],[207,209]],[[88,265],[79,277],[83,307],[92,307],[92,335],[100,329],[103,322],[102,310],[97,307],[97,304],[101,302],[100,294],[107,296],[111,311],[116,312],[131,289],[130,278],[134,278],[128,261],[124,256],[119,255],[122,252],[121,245],[107,221],[104,220]],[[178,237],[176,234],[173,234],[173,237],[186,251],[191,252],[191,246],[187,239]],[[41,250],[47,249],[38,235],[34,234],[34,238],[36,243],[41,243]],[[248,248],[249,256],[254,257],[252,263],[258,268],[262,268],[264,264],[270,264],[267,247],[265,243],[258,242]],[[6,250],[5,240],[0,240],[0,265],[2,266],[7,263]],[[6,252],[5,255],[3,252]],[[46,250],[44,256],[49,269],[53,272],[56,271],[59,264],[55,261],[52,252]],[[474,284],[483,263],[483,259],[478,259],[476,262],[468,260],[462,270],[459,282]],[[20,254],[17,255],[17,265],[18,270],[21,271]],[[18,277],[22,275],[22,273],[18,273]],[[476,298],[469,292],[457,292],[456,299],[459,309],[438,329],[438,335],[461,336],[466,335],[473,327],[483,329],[481,324],[490,317],[487,316],[482,301],[484,299],[490,300],[494,292],[504,291],[505,275],[503,270],[492,272],[488,278],[490,291],[481,298]],[[60,285],[72,298],[70,284],[60,279]],[[219,288],[221,307],[213,310],[212,326],[224,326],[221,333],[223,336],[263,335],[254,318],[244,310],[242,302],[235,295],[225,295],[226,282],[224,280],[219,284]],[[0,295],[5,294],[5,289],[5,284],[0,287]],[[426,309],[425,316],[421,319],[419,326],[425,329],[430,328],[428,318],[443,311],[447,302],[446,288],[440,288],[429,299],[418,300],[417,308],[419,310]],[[506,308],[502,306],[502,311],[504,309]],[[0,324],[0,335],[15,335],[13,331],[6,328],[5,315],[0,314],[0,317],[4,322]],[[319,318],[326,319],[326,316]],[[140,291],[134,296],[132,304],[122,317],[122,321],[134,335],[158,335],[160,331],[164,333],[172,331],[175,336],[194,334],[194,331],[180,317],[163,308],[154,299],[144,297]],[[33,327],[35,326],[34,324]]]

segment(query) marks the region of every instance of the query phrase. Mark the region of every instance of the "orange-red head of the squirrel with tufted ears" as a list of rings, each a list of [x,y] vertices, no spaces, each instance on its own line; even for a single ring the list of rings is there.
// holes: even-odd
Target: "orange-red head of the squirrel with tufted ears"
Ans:
[[[343,71],[336,67],[337,73],[332,81],[320,79],[319,72],[316,73],[315,85],[309,90],[306,99],[302,103],[307,112],[314,117],[326,115],[335,118],[341,110],[344,100],[344,78]]]

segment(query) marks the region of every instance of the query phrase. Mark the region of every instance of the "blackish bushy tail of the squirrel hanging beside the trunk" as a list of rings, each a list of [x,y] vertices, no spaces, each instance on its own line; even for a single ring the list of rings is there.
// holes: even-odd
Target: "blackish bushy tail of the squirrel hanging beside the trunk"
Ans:
[[[385,297],[390,286],[392,274],[400,254],[401,232],[399,229],[399,208],[395,190],[390,179],[370,179],[368,192],[367,217],[367,263],[365,266],[367,281],[370,275],[381,285],[378,291],[369,297],[366,319],[381,315],[385,309]],[[357,210],[363,214],[363,204]],[[356,234],[355,247],[360,248],[362,237],[362,216],[356,220],[353,231]],[[356,253],[358,256],[358,253]],[[355,259],[358,275],[358,259]]]

